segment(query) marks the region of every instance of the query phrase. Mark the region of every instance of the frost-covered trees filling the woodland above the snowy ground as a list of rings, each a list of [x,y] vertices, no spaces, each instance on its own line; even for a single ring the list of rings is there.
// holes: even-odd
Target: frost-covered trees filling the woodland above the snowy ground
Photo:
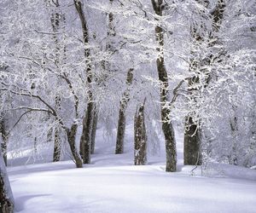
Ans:
[[[98,122],[118,127],[113,152],[123,153],[136,112],[136,164],[146,164],[152,120],[161,120],[166,171],[177,170],[174,124],[183,126],[184,164],[255,164],[255,3],[71,2],[0,3],[5,161],[26,130],[35,148],[53,145],[53,161],[67,141],[76,166],[90,164]]]

